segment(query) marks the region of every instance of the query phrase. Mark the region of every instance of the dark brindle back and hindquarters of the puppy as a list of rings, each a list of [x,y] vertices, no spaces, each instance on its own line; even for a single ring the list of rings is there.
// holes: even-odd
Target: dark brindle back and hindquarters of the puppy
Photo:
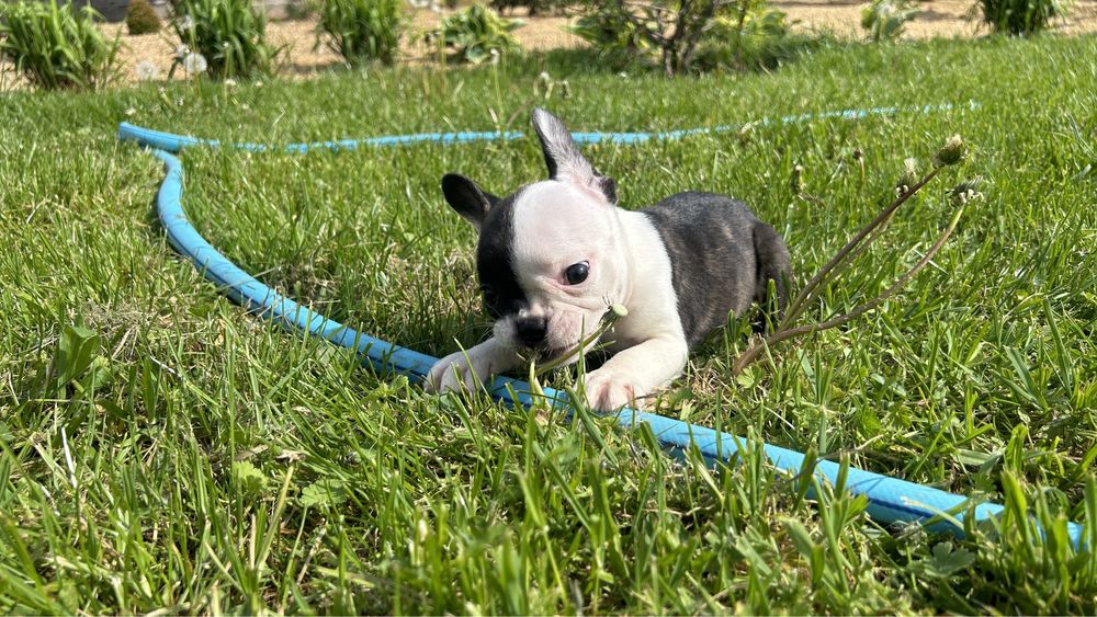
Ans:
[[[646,215],[670,256],[678,315],[692,347],[751,301],[766,302],[768,281],[784,308],[789,250],[772,227],[737,199],[712,193],[679,193]]]

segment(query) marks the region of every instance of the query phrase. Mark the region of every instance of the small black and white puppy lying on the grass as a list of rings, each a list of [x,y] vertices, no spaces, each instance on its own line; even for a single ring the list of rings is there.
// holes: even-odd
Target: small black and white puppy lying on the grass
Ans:
[[[446,202],[479,231],[476,268],[495,335],[439,361],[429,390],[472,388],[522,356],[558,356],[620,304],[629,313],[615,324],[614,355],[585,384],[592,409],[615,410],[677,377],[728,312],[766,302],[769,281],[783,308],[789,251],[745,204],[690,192],[619,208],[613,180],[556,116],[534,110],[533,127],[548,180],[499,198],[463,175],[442,179]]]

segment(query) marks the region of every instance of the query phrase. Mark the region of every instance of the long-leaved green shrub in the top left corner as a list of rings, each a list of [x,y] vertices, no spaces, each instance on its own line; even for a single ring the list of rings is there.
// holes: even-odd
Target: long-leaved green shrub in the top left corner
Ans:
[[[38,88],[102,88],[118,76],[121,43],[100,32],[101,16],[57,0],[0,2],[0,56]]]

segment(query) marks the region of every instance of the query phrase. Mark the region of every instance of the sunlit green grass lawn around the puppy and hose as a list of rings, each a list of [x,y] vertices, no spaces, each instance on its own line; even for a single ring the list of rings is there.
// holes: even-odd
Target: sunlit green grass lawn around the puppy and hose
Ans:
[[[986,39],[838,47],[768,76],[671,81],[558,56],[10,96],[0,610],[1093,614],[1097,560],[1016,514],[1097,537],[1094,58],[1094,37]],[[536,102],[577,130],[982,103],[586,151],[629,206],[692,187],[746,199],[803,281],[890,198],[905,157],[928,162],[962,134],[968,164],[904,207],[811,316],[879,293],[948,222],[946,191],[983,175],[986,201],[932,266],[738,379],[727,367],[745,338],[706,345],[675,385],[692,396],[663,412],[1008,501],[998,532],[883,529],[841,492],[798,499],[754,446],[710,472],[610,420],[566,425],[381,379],[219,296],[151,214],[160,164],[114,138],[123,119],[274,144],[494,129],[512,114],[525,129],[541,70],[572,95]],[[486,333],[473,230],[441,174],[496,192],[544,174],[532,139],[183,160],[184,203],[229,259],[434,354]],[[796,163],[823,204],[793,195]]]

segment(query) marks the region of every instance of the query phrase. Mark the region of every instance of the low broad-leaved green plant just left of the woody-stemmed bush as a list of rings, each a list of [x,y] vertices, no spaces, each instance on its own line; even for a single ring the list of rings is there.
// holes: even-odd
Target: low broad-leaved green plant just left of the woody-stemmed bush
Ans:
[[[493,50],[498,54],[517,52],[518,39],[511,32],[523,25],[521,20],[500,18],[491,9],[473,4],[442,20],[441,26],[428,33],[427,39],[428,43],[437,39],[453,49],[451,59],[475,65],[490,58]]]

